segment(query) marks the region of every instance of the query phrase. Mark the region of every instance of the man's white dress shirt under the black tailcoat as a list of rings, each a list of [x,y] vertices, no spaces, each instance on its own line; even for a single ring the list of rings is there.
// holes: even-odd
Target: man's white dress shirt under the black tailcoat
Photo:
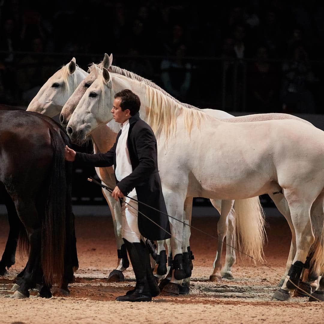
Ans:
[[[121,135],[118,139],[116,147],[116,170],[115,175],[118,181],[129,176],[133,172],[131,159],[127,147],[127,137],[129,131],[129,120],[120,125]],[[128,196],[136,196],[135,188],[128,194]]]

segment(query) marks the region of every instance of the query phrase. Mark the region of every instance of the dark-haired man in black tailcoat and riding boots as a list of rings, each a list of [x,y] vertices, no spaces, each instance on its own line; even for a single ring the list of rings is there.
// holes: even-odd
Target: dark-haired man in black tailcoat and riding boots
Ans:
[[[160,290],[141,235],[152,240],[170,237],[168,216],[163,214],[167,213],[167,209],[157,168],[156,138],[151,127],[139,117],[141,102],[136,94],[125,89],[116,93],[114,98],[111,113],[114,120],[121,124],[121,130],[113,147],[107,153],[86,154],[66,146],[65,159],[94,167],[114,165],[117,186],[111,195],[116,200],[122,198],[121,233],[136,277],[135,289],[116,300],[151,301]],[[163,213],[138,204],[125,195]]]

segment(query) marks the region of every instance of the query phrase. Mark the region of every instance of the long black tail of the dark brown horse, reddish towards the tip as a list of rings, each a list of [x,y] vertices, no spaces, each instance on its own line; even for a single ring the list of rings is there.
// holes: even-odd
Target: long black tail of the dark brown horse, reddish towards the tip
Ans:
[[[42,222],[42,268],[46,283],[62,282],[64,274],[64,253],[66,241],[66,225],[70,223],[66,213],[68,191],[65,169],[62,134],[49,127],[53,159],[49,179],[49,191]],[[64,134],[64,136],[66,136]]]

